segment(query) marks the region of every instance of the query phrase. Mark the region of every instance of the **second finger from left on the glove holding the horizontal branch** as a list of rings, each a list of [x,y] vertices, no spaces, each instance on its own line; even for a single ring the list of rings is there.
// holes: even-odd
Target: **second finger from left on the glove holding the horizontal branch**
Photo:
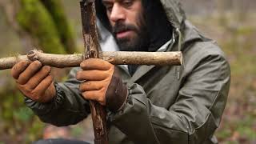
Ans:
[[[41,67],[42,67],[41,62],[39,61],[32,62],[29,66],[27,66],[26,70],[24,70],[22,74],[18,76],[17,82],[21,85],[26,84],[26,82],[28,82],[29,79],[32,78],[34,74],[41,69]]]

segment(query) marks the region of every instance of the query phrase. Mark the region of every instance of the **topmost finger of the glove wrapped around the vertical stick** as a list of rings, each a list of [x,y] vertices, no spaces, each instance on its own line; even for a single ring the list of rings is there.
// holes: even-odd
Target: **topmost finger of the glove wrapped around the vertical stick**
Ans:
[[[82,70],[110,70],[113,65],[102,59],[89,58],[81,62],[80,66]]]

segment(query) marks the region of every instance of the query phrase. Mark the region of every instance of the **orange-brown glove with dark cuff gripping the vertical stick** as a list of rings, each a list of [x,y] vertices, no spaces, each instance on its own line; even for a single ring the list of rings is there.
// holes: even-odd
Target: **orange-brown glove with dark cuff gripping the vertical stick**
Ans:
[[[128,96],[127,87],[122,83],[114,65],[98,58],[89,58],[80,64],[77,79],[82,82],[82,96],[89,100],[98,101],[111,111],[122,108]]]

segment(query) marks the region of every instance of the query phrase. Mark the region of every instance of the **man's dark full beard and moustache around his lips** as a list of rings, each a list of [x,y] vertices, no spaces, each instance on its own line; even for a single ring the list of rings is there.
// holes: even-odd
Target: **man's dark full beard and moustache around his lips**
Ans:
[[[146,24],[143,18],[138,19],[138,27],[132,24],[126,24],[122,21],[116,22],[113,26],[113,34],[116,42],[118,43],[121,51],[147,51],[150,42],[149,35],[147,34]],[[133,38],[117,38],[118,32],[132,30],[134,31]]]

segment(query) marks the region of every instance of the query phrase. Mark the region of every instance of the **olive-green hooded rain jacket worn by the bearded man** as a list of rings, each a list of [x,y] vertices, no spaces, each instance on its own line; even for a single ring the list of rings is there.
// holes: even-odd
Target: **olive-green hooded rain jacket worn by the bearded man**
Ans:
[[[183,65],[139,66],[132,77],[118,66],[129,96],[122,110],[108,111],[110,144],[218,143],[214,131],[226,106],[230,66],[217,44],[186,20],[178,2],[161,2],[170,24],[182,33]],[[158,51],[177,51],[180,35],[174,32]],[[55,83],[52,102],[25,99],[42,122],[68,126],[90,114],[89,102],[78,90],[77,70],[70,71],[66,82]]]

